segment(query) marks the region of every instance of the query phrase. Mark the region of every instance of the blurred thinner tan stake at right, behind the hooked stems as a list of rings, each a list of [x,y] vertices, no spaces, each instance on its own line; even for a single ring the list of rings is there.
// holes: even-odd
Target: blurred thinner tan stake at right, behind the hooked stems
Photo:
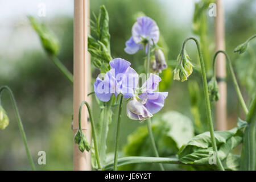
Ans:
[[[222,0],[216,0],[217,16],[215,18],[215,51],[225,51],[225,23],[224,6]],[[225,55],[219,54],[216,59],[216,77],[218,78],[218,87],[220,100],[216,102],[216,125],[217,130],[227,130],[226,121],[226,61]]]

